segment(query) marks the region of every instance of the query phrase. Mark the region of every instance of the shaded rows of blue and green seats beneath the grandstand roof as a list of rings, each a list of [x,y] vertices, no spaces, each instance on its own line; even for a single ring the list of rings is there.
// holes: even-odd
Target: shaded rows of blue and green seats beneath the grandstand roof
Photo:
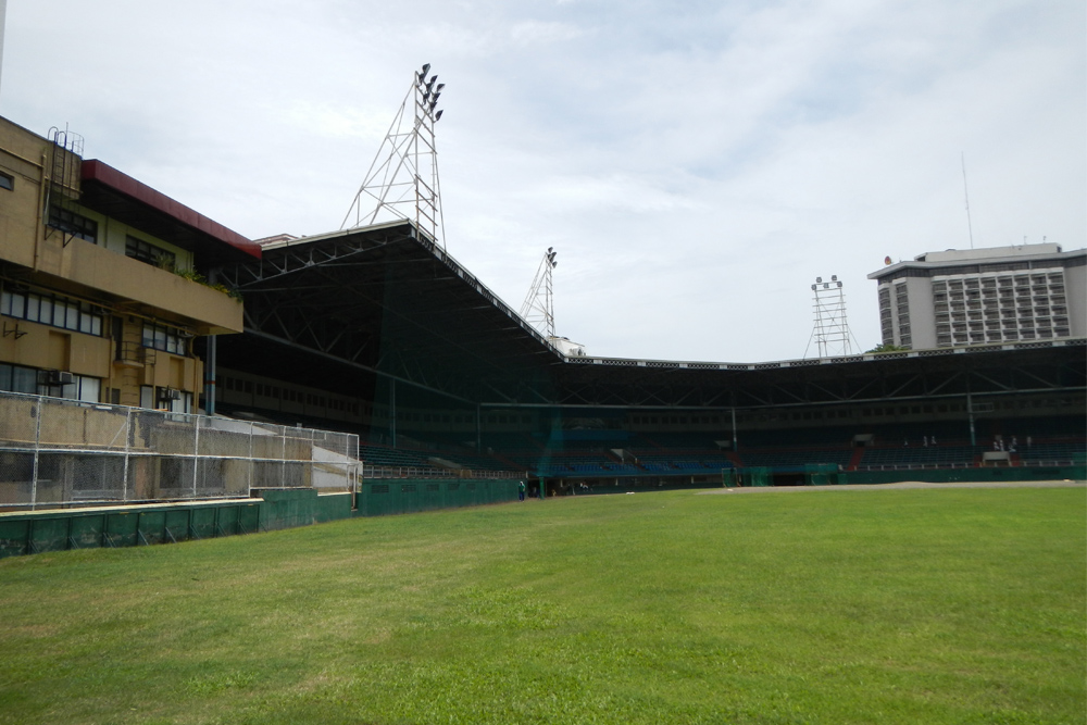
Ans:
[[[1003,441],[1012,461],[1037,464],[1082,460],[1087,438],[1076,434],[1079,423],[1038,420],[1030,425],[1003,426],[1001,433],[978,426],[977,445],[964,439],[961,424],[902,425],[877,429],[864,447],[854,445],[854,428],[828,427],[789,432],[750,432],[742,435],[738,451],[724,450],[730,434],[657,433],[620,430],[612,441],[595,432],[592,439],[566,436],[544,440],[530,434],[490,434],[482,452],[464,443],[445,441],[437,450],[411,450],[368,443],[361,446],[367,465],[390,467],[464,467],[475,471],[524,471],[540,477],[677,476],[720,473],[723,468],[764,466],[778,471],[808,465],[833,465],[839,470],[887,467],[966,466],[980,462]],[[1071,427],[1070,427],[1071,426]],[[1008,430],[1016,433],[1008,433]],[[1070,433],[1071,430],[1071,433]],[[1028,442],[1029,441],[1029,442]]]

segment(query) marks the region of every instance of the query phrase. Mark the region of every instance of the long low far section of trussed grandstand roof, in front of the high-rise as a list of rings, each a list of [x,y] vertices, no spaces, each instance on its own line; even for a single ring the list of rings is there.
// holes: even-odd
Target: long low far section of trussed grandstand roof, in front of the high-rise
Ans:
[[[773,363],[570,359],[569,407],[774,409],[1087,389],[1087,340]]]

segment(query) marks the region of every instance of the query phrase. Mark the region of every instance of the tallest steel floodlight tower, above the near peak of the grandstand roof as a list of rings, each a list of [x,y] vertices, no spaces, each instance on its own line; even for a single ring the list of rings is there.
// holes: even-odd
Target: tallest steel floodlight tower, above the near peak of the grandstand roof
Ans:
[[[427,79],[429,71],[426,63],[415,72],[340,229],[409,220],[445,248],[434,125],[441,118],[435,107],[446,84],[437,83],[437,75]]]

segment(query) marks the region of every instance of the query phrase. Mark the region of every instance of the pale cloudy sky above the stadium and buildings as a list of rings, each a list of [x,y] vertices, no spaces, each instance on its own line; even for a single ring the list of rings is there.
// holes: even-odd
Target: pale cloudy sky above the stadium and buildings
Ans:
[[[7,5],[0,115],[249,238],[339,228],[430,63],[447,250],[517,309],[554,247],[589,354],[813,357],[832,274],[863,351],[886,257],[1087,245],[1083,0]]]

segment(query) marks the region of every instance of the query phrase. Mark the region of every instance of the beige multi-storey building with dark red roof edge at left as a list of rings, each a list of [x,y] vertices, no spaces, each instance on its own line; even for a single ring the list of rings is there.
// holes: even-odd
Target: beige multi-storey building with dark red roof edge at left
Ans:
[[[202,335],[239,333],[207,284],[260,247],[0,117],[0,390],[195,412]]]

